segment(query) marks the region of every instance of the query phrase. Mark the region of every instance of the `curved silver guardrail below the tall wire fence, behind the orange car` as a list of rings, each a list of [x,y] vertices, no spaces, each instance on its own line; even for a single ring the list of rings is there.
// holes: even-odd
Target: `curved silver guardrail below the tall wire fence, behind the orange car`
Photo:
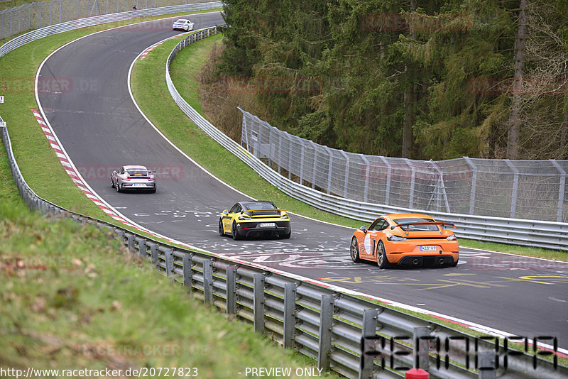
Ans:
[[[205,31],[203,32],[205,33]],[[239,143],[236,143],[224,133],[219,131],[212,123],[209,123],[195,109],[187,104],[183,99],[170,77],[169,65],[175,55],[188,45],[192,37],[182,40],[170,53],[168,57],[168,67],[166,67],[165,80],[168,89],[176,104],[180,109],[209,136],[214,138],[219,144],[236,155],[244,163],[255,170],[271,185],[278,187],[282,192],[295,199],[323,209],[324,211],[339,214],[351,219],[372,221],[379,214],[388,213],[414,213],[424,212],[417,209],[406,209],[400,207],[388,207],[381,204],[370,204],[358,202],[352,199],[334,196],[317,191],[305,185],[300,185],[293,180],[280,175],[271,167],[256,158],[249,151],[245,150]],[[240,108],[239,108],[240,109]],[[250,114],[240,109],[244,115]],[[538,221],[525,219],[505,219],[490,216],[474,216],[469,214],[449,214],[442,212],[427,212],[438,221],[452,222],[457,226],[457,236],[471,238],[479,241],[492,241],[500,243],[514,243],[522,246],[535,246],[542,248],[552,248],[568,251],[568,224],[553,221]]]

